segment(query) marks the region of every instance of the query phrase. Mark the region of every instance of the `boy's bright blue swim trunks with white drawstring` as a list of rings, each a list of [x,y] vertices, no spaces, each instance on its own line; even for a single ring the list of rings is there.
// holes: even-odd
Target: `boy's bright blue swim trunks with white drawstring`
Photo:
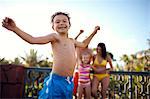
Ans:
[[[39,99],[72,99],[72,77],[64,77],[55,73],[45,78],[43,89],[39,92]]]

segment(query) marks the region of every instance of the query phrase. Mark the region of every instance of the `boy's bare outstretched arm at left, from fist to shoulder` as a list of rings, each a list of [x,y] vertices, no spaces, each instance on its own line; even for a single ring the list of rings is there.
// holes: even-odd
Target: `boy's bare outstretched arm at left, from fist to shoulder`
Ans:
[[[54,33],[42,37],[33,37],[30,34],[27,34],[26,32],[22,31],[20,28],[18,28],[15,22],[8,17],[6,17],[3,20],[2,26],[10,31],[15,32],[19,37],[21,37],[23,40],[25,40],[30,44],[46,44],[48,42],[56,40],[56,34]]]

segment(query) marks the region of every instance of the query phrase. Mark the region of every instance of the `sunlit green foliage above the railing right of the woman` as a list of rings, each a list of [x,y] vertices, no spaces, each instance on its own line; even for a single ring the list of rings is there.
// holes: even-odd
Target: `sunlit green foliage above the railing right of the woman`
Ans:
[[[123,55],[121,60],[125,63],[126,71],[150,71],[150,49],[132,55]]]

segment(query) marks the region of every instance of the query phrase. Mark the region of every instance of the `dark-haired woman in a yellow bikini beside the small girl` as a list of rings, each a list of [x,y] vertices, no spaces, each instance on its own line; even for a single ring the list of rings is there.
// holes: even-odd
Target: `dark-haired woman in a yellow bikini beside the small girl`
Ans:
[[[110,64],[111,70],[113,69],[111,58],[107,55],[104,43],[97,45],[97,54],[94,56],[92,69],[94,71],[92,80],[92,96],[98,98],[97,90],[99,82],[101,82],[101,95],[102,99],[106,98],[106,91],[109,86],[109,74],[106,72],[106,64]]]

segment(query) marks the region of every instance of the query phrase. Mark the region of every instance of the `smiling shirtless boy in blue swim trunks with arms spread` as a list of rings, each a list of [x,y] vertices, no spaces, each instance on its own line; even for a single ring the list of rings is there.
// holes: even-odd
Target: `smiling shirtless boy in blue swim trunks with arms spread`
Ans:
[[[2,26],[13,31],[19,37],[30,44],[47,44],[51,43],[53,51],[52,72],[44,81],[44,87],[39,93],[40,99],[72,99],[73,82],[72,75],[76,64],[75,47],[86,47],[93,36],[93,32],[84,42],[78,42],[68,38],[70,29],[70,17],[63,12],[56,12],[52,15],[52,28],[57,33],[51,33],[42,37],[33,37],[16,26],[15,22],[6,17]]]

